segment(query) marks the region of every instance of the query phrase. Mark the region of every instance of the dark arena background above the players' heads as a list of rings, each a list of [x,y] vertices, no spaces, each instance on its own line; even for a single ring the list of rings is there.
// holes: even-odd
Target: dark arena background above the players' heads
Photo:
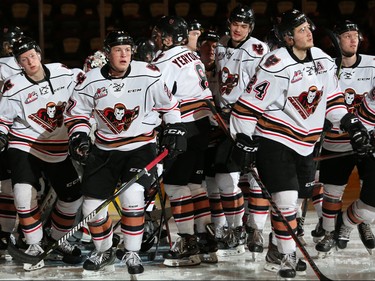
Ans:
[[[340,19],[357,23],[364,36],[362,53],[375,55],[375,0],[1,0],[0,25],[17,25],[42,47],[45,62],[63,62],[82,68],[85,58],[102,47],[104,34],[111,29],[128,31],[134,39],[149,37],[163,14],[180,15],[188,22],[198,20],[203,28],[224,34],[227,17],[237,3],[250,5],[255,12],[252,36],[264,40],[274,19],[293,7],[304,11],[317,29],[314,43],[335,56],[325,33]],[[42,4],[42,9],[39,5]],[[41,12],[43,11],[43,12]],[[41,35],[40,18],[43,19]],[[101,32],[102,30],[102,32]],[[66,40],[69,38],[68,40]]]

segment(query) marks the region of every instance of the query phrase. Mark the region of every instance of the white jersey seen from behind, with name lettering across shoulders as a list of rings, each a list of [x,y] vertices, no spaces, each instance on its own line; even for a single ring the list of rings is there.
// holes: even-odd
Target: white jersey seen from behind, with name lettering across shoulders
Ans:
[[[212,100],[205,67],[186,46],[160,52],[152,61],[180,103],[182,122],[193,122],[211,114],[205,100]]]

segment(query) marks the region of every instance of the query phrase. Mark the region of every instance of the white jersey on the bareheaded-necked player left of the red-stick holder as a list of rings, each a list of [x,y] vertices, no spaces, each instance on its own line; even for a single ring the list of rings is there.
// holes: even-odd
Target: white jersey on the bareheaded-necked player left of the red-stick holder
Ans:
[[[68,155],[63,112],[76,77],[60,63],[43,67],[46,79],[42,82],[29,79],[23,72],[5,81],[0,100],[0,130],[9,135],[9,148],[56,163]]]

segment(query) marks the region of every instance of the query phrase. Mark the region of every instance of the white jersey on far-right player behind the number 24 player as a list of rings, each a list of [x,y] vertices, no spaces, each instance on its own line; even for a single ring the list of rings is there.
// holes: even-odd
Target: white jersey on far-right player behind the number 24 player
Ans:
[[[348,111],[357,114],[363,98],[375,87],[375,56],[358,55],[356,63],[351,67],[342,67],[339,74],[339,85],[344,93],[345,104]],[[369,104],[369,103],[368,103]],[[367,104],[367,105],[368,105]],[[367,105],[364,105],[365,107]],[[371,124],[375,108],[367,109],[364,116],[359,116],[362,123]],[[368,126],[373,130],[374,126]],[[350,144],[350,137],[347,133],[340,133],[338,130],[332,130],[326,134],[323,147],[330,151],[346,152],[353,150]]]

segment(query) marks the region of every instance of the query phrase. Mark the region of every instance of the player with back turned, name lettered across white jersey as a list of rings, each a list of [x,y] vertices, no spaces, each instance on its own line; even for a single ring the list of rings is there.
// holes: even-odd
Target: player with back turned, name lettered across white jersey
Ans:
[[[168,88],[180,103],[188,147],[185,153],[164,163],[164,188],[179,234],[172,249],[164,256],[164,264],[195,265],[201,258],[202,261],[217,262],[217,244],[206,229],[211,223],[211,212],[207,192],[202,186],[210,131],[210,111],[205,101],[212,100],[205,68],[199,56],[186,46],[188,25],[183,18],[162,17],[152,36],[160,50],[153,64],[160,69]],[[201,256],[197,255],[199,251]]]

